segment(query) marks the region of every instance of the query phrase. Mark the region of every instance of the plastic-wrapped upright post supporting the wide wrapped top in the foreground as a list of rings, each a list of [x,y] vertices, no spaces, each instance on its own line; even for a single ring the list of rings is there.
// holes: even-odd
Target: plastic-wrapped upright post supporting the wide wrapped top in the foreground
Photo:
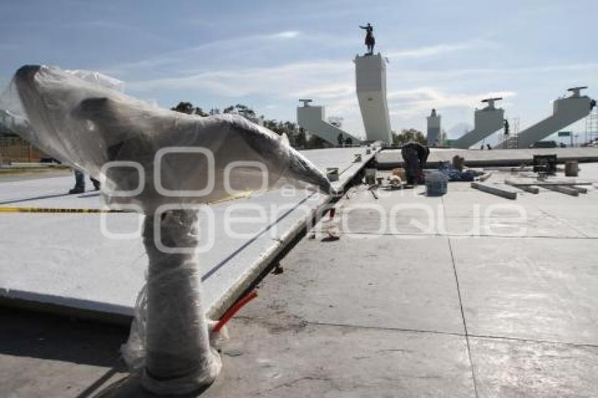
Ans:
[[[144,245],[149,265],[142,300],[146,307],[139,311],[125,352],[134,354],[136,366],[144,366],[142,377],[149,390],[181,394],[211,383],[222,362],[210,345],[196,254],[162,252],[155,245],[154,228],[160,229],[167,245],[196,246],[197,212],[175,210],[158,220],[146,217]]]

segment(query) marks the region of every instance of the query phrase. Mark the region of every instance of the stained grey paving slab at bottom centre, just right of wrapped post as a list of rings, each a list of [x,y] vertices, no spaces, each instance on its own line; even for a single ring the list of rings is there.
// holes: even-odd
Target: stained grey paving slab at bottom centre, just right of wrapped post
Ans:
[[[237,323],[231,333],[243,337],[227,345],[230,367],[205,397],[475,397],[459,336]]]

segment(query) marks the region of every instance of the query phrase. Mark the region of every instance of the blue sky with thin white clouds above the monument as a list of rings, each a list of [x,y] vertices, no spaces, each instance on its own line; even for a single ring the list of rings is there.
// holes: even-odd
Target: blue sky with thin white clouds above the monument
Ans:
[[[117,77],[162,107],[243,103],[291,121],[307,97],[358,136],[352,60],[366,23],[388,58],[395,131],[425,131],[436,108],[459,135],[488,96],[504,98],[521,130],[571,86],[598,97],[595,0],[1,0],[0,15],[2,86],[20,65],[57,65]],[[585,123],[570,130],[583,135]]]

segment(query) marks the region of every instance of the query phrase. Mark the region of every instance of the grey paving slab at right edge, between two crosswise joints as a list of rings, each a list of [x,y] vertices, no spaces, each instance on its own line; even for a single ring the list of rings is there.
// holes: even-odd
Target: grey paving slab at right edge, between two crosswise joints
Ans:
[[[598,268],[587,239],[452,239],[469,333],[598,345]]]

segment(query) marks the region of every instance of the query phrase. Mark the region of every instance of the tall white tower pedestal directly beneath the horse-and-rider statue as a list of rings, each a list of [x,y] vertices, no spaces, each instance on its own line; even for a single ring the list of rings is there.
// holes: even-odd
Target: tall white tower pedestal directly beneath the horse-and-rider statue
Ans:
[[[355,84],[367,141],[392,143],[386,103],[386,61],[380,53],[355,57]]]

